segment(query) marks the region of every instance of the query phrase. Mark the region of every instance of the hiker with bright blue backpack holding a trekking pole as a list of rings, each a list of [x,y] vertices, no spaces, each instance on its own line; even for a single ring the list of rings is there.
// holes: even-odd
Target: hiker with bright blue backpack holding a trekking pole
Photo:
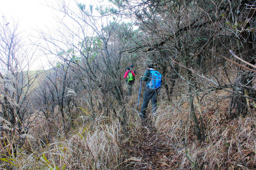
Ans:
[[[143,94],[143,103],[141,106],[141,111],[139,117],[145,118],[146,109],[148,107],[148,102],[151,99],[152,103],[152,113],[155,114],[157,108],[157,95],[161,88],[161,79],[162,75],[154,70],[154,65],[147,65],[147,70],[144,73],[144,76],[140,76],[141,81],[146,82],[145,91]]]

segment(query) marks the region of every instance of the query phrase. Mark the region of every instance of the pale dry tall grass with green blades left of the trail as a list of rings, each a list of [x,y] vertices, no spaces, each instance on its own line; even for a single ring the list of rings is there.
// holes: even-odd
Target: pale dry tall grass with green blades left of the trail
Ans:
[[[122,160],[122,127],[117,119],[103,115],[68,134],[61,129],[49,134],[45,123],[24,137],[23,144],[12,136],[2,140],[2,169],[118,169]]]

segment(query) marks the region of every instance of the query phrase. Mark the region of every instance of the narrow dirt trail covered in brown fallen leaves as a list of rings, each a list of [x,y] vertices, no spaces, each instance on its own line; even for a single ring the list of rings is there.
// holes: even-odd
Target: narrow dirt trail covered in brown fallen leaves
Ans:
[[[157,133],[152,121],[147,118],[142,121],[142,126],[137,131],[137,138],[126,142],[124,146],[128,155],[123,169],[176,169],[177,162],[171,159],[175,153],[161,141],[161,135]]]

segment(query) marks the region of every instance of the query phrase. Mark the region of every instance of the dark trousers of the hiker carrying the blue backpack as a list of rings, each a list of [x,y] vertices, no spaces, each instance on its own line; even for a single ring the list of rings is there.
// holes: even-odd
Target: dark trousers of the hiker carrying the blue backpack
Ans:
[[[157,94],[158,94],[158,90],[154,90],[152,91],[150,88],[148,87],[145,87],[145,91],[144,91],[144,94],[143,94],[143,103],[142,103],[142,106],[141,106],[141,111],[140,111],[140,115],[142,116],[145,116],[146,114],[146,110],[147,110],[147,107],[148,107],[148,102],[149,100],[151,99],[151,103],[152,103],[152,113],[154,113],[156,111],[156,108],[157,108]]]

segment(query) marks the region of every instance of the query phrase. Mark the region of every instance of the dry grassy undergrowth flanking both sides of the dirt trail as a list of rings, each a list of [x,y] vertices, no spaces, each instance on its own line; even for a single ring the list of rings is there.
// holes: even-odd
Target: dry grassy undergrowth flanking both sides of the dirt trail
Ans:
[[[246,116],[229,119],[226,92],[212,92],[210,97],[196,101],[196,114],[202,114],[205,139],[198,141],[188,102],[161,101],[157,113],[148,116],[157,128],[161,143],[171,153],[165,161],[176,164],[173,169],[254,169],[256,168],[256,117],[254,107]],[[134,99],[108,116],[93,119],[77,117],[75,127],[65,132],[56,121],[39,121],[26,134],[19,135],[1,120],[1,169],[122,169],[124,160],[139,161],[125,153],[123,145],[138,140],[142,126],[134,109]],[[212,102],[215,100],[215,102]],[[249,106],[254,106],[248,101]],[[149,106],[151,107],[151,106]],[[160,144],[159,144],[160,145]],[[130,158],[130,159],[129,159]]]

